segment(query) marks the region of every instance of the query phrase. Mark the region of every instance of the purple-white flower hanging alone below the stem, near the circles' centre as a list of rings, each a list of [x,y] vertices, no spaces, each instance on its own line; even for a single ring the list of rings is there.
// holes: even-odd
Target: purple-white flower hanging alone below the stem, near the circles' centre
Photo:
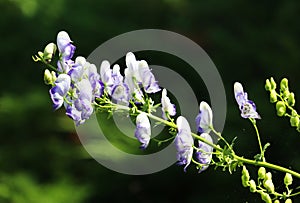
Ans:
[[[146,113],[142,112],[136,117],[135,137],[142,144],[141,149],[145,149],[150,141],[151,126]]]

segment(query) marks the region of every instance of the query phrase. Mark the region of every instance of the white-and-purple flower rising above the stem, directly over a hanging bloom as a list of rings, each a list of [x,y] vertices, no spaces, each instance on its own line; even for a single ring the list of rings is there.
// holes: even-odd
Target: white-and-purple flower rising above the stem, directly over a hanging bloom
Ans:
[[[213,114],[210,106],[202,101],[199,105],[199,114],[196,117],[196,126],[198,127],[198,132],[209,133],[212,127]]]

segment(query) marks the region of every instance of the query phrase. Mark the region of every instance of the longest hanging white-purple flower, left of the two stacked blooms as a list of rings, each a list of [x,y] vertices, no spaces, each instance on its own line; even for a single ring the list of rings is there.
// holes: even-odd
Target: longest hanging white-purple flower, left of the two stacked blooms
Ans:
[[[186,168],[192,160],[194,139],[191,134],[190,125],[186,118],[179,116],[176,124],[178,128],[178,133],[175,137],[177,160],[179,165],[185,165],[184,171],[186,171]]]

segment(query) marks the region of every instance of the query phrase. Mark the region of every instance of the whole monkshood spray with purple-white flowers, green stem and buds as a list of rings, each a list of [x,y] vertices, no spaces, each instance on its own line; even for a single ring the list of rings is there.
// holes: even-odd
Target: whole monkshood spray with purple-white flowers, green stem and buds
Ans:
[[[195,164],[199,172],[206,170],[210,165],[214,166],[215,170],[222,168],[222,171],[228,170],[229,173],[242,167],[242,185],[259,195],[264,202],[278,203],[280,200],[288,203],[291,202],[291,198],[300,195],[300,187],[291,188],[296,182],[292,184],[293,178],[300,179],[300,173],[289,169],[290,166],[283,167],[266,161],[264,153],[269,144],[262,146],[260,141],[256,125],[256,119],[260,116],[254,102],[248,99],[239,82],[234,84],[234,96],[241,116],[252,122],[260,148],[260,153],[252,159],[246,158],[247,155],[239,156],[234,151],[235,140],[239,139],[228,142],[221,132],[214,129],[212,109],[204,101],[200,103],[199,114],[195,119],[196,133],[191,131],[187,119],[183,116],[178,115],[174,123],[171,116],[177,116],[176,107],[167,96],[167,90],[162,90],[160,103],[157,104],[149,95],[159,92],[161,87],[145,60],[137,60],[135,55],[129,52],[126,55],[126,67],[121,68],[115,64],[111,68],[108,61],[103,61],[99,74],[97,67],[84,57],[77,56],[73,59],[75,49],[68,33],[61,31],[57,35],[56,44],[49,43],[43,52],[39,51],[32,58],[47,66],[44,82],[51,86],[49,94],[54,110],[65,108],[66,115],[73,119],[76,125],[84,124],[95,111],[106,112],[109,115],[117,111],[125,112],[126,115],[136,118],[134,135],[141,143],[140,148],[146,149],[151,140],[151,119],[156,125],[168,127],[170,135],[165,140],[152,140],[158,142],[158,146],[160,143],[170,143],[174,140],[178,164],[184,166],[185,172],[191,164]],[[58,57],[55,57],[57,52]],[[57,61],[53,61],[54,59]],[[124,73],[121,73],[121,70],[124,70]],[[287,79],[282,79],[278,93],[273,78],[266,81],[265,88],[270,91],[270,101],[276,103],[277,115],[289,117],[291,126],[300,131],[300,116],[293,108],[295,94],[289,91]],[[161,117],[153,114],[159,106],[162,107]],[[209,133],[218,136],[217,143]],[[250,177],[246,165],[259,168],[257,177]],[[271,172],[266,172],[265,168],[284,173],[285,178],[282,182],[285,187],[275,186]],[[279,191],[282,188],[283,190]]]

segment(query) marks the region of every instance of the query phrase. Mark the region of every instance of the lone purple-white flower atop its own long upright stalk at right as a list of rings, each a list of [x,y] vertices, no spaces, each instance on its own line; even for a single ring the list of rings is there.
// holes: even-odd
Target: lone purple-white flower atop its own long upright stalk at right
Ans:
[[[241,116],[243,118],[256,118],[260,119],[256,111],[256,106],[253,101],[248,100],[248,94],[244,92],[243,86],[239,82],[234,83],[234,96],[239,105]]]

